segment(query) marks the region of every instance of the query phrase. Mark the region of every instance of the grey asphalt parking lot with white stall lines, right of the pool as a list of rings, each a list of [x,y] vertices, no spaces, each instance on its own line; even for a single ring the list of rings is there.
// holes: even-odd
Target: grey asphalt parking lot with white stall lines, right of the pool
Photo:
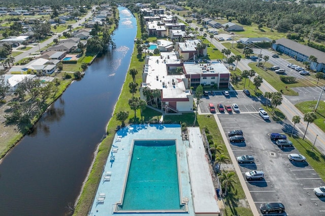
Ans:
[[[244,179],[246,171],[264,171],[263,180],[246,181],[257,209],[261,203],[282,202],[285,212],[273,215],[325,215],[325,198],[318,198],[313,192],[314,188],[325,185],[323,181],[308,161],[288,160],[288,154],[298,153],[294,147],[280,149],[268,135],[288,131],[290,122],[266,122],[257,113],[218,115],[218,118],[227,137],[233,129],[243,131],[246,141],[230,144],[234,155],[253,155],[255,158],[252,164],[240,164]]]

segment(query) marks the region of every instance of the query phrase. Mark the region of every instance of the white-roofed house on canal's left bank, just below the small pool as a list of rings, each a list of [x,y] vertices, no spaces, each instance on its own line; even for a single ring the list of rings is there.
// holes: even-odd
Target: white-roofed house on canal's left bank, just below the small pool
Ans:
[[[48,60],[48,59],[35,59],[25,65],[14,65],[10,68],[9,72],[20,72],[24,73],[27,70],[37,71],[43,74],[52,74],[57,68],[59,60]]]

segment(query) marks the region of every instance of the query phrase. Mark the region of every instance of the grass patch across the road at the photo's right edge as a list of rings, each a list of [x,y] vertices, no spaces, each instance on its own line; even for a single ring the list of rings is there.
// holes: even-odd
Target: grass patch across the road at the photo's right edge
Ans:
[[[313,112],[317,104],[317,100],[315,101],[305,101],[296,104],[295,106],[302,112],[302,113],[307,113],[307,112]],[[316,124],[323,132],[325,132],[325,102],[319,101],[317,111],[316,111],[317,118],[313,122]]]

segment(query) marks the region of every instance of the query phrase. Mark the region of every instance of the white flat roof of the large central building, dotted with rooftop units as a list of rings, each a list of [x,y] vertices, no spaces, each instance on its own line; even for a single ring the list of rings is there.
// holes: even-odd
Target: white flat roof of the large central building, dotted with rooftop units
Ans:
[[[148,65],[145,66],[146,85],[151,90],[163,90],[163,98],[187,98],[190,95],[186,91],[183,78],[184,75],[167,75],[167,64],[180,64],[175,53],[161,52],[160,56],[149,56]],[[158,80],[157,80],[158,76]],[[175,85],[173,85],[173,79]],[[165,87],[163,86],[165,82]]]

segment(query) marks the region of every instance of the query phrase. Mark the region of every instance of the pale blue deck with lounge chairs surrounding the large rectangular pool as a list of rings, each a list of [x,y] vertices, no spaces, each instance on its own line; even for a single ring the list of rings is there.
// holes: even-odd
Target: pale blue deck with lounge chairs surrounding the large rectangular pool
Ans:
[[[164,140],[175,139],[179,152],[179,174],[181,174],[182,197],[188,200],[188,212],[171,213],[164,212],[164,215],[186,214],[194,216],[193,200],[191,195],[189,169],[187,162],[187,149],[189,142],[182,140],[181,126],[179,124],[135,124],[123,127],[117,131],[109,158],[105,165],[101,182],[96,193],[93,205],[88,215],[107,216],[113,215],[116,203],[122,199],[124,182],[128,161],[131,155],[131,148],[134,140]],[[110,160],[111,156],[114,160]],[[135,197],[137,199],[137,197]],[[180,200],[182,201],[182,200]],[[135,213],[115,213],[122,215],[135,215]],[[161,213],[136,213],[136,215],[161,215]]]

